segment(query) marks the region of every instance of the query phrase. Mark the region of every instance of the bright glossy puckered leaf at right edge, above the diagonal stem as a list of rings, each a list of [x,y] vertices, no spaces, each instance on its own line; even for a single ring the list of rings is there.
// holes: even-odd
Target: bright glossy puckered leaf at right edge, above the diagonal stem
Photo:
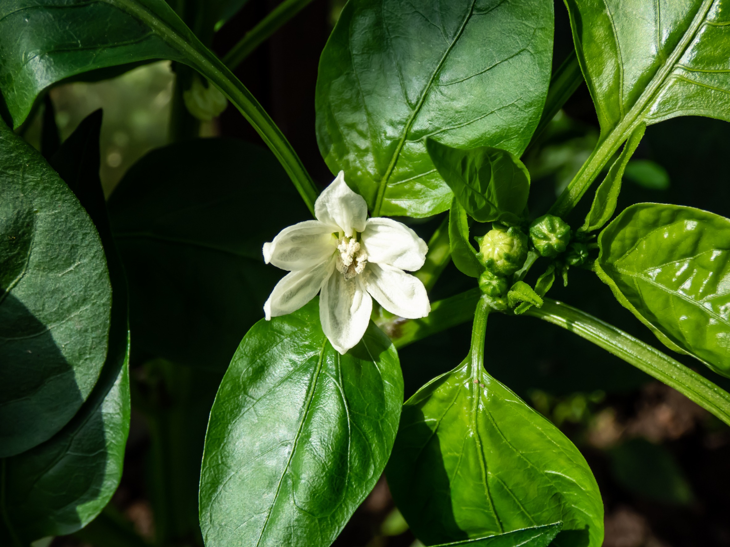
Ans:
[[[730,377],[730,220],[637,203],[599,235],[596,273],[670,349]]]

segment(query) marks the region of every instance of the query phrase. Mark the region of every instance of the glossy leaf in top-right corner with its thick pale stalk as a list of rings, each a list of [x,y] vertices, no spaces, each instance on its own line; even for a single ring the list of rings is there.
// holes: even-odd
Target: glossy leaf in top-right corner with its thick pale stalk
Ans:
[[[730,120],[727,0],[566,0],[601,139],[550,212],[565,217],[641,123]]]

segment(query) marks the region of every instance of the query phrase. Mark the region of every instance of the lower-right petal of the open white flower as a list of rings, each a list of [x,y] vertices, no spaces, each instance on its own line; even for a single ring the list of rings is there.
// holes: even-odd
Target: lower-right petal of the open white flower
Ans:
[[[418,277],[391,265],[373,263],[368,263],[363,277],[367,292],[391,314],[418,319],[431,311],[426,287]]]

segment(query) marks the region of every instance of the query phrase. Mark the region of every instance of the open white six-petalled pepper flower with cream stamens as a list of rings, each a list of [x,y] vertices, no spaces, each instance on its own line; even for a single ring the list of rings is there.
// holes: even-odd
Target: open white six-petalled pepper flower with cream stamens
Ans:
[[[428,247],[413,230],[389,218],[368,219],[364,198],[342,171],[317,198],[315,217],[264,244],[266,263],[290,271],[264,304],[267,320],[291,314],[320,292],[322,329],[345,354],[365,333],[372,298],[407,319],[429,314],[426,287],[404,271],[426,260]]]

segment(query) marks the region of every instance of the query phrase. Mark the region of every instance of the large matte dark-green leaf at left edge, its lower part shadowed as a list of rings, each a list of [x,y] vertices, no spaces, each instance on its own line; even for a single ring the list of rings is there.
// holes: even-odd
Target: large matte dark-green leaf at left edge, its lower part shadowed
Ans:
[[[88,214],[0,121],[0,457],[47,441],[76,414],[107,357],[111,305]]]

